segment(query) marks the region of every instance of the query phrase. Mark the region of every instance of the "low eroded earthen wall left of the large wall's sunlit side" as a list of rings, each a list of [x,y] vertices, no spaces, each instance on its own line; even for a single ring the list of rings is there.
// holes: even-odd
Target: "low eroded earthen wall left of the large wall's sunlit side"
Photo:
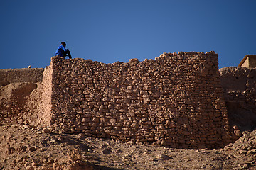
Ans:
[[[23,125],[36,120],[37,103],[31,94],[42,79],[42,68],[0,69],[0,123]]]

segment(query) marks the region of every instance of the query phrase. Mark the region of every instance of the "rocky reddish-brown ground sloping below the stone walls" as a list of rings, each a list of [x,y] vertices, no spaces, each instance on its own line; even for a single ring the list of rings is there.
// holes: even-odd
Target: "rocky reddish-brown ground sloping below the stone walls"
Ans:
[[[0,169],[256,169],[256,130],[224,149],[173,149],[0,126]]]

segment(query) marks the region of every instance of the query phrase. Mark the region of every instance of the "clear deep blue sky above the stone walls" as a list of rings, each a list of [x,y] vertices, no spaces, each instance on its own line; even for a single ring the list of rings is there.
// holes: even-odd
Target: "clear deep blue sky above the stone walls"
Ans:
[[[163,52],[218,53],[219,67],[256,54],[255,0],[0,0],[0,69],[46,67],[61,41],[97,62]]]

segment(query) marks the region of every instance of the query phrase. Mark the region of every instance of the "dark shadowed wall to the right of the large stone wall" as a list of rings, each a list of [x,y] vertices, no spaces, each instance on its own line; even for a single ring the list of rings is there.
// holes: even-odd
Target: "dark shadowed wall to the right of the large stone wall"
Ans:
[[[225,67],[220,69],[228,118],[240,130],[256,128],[256,69]]]

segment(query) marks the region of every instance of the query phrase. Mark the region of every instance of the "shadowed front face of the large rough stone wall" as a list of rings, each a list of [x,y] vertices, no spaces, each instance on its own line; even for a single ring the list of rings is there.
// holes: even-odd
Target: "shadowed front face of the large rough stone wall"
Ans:
[[[176,148],[231,142],[215,52],[113,64],[52,57],[51,68],[58,132]]]

